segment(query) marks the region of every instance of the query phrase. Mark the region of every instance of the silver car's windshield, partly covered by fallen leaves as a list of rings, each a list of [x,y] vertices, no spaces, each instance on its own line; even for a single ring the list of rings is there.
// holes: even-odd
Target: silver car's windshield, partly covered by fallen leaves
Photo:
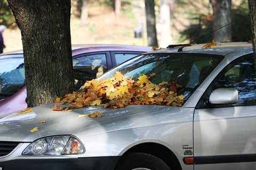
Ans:
[[[143,74],[155,73],[149,79],[152,83],[175,82],[182,86],[177,89],[178,95],[184,95],[187,99],[191,91],[202,83],[222,58],[223,56],[212,54],[145,54],[115,67],[98,79],[109,79],[117,71],[124,76],[133,77],[133,80],[138,80]]]

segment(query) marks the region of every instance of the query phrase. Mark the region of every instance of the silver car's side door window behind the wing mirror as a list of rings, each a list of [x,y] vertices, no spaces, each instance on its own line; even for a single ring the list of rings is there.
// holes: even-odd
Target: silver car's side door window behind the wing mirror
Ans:
[[[254,58],[246,58],[234,64],[214,84],[212,90],[217,88],[232,88],[239,92],[239,104],[256,104],[256,80]]]

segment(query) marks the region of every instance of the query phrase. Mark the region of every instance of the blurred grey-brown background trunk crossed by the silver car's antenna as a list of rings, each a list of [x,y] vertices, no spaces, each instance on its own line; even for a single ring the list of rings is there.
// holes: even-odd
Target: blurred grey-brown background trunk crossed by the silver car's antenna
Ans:
[[[213,30],[223,27],[231,22],[231,0],[211,0],[213,7]],[[213,32],[215,41],[231,39],[231,24]]]

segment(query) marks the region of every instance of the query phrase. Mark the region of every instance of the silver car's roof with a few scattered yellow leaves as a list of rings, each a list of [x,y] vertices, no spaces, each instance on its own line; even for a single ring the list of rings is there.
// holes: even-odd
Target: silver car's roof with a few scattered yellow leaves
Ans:
[[[252,52],[252,44],[246,42],[238,42],[238,43],[218,43],[216,46],[212,46],[211,48],[203,48],[206,44],[195,44],[190,46],[180,45],[178,47],[173,48],[163,48],[155,50],[154,52],[148,53],[205,53],[205,54],[217,54],[217,55],[227,55],[229,53],[251,53]],[[181,52],[178,52],[179,48],[182,48]]]

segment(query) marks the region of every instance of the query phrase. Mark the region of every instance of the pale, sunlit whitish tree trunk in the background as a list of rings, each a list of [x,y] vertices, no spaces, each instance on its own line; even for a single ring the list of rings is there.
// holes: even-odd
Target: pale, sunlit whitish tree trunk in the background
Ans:
[[[160,18],[161,18],[161,40],[160,47],[167,47],[172,44],[171,35],[171,17],[169,0],[161,0]]]

